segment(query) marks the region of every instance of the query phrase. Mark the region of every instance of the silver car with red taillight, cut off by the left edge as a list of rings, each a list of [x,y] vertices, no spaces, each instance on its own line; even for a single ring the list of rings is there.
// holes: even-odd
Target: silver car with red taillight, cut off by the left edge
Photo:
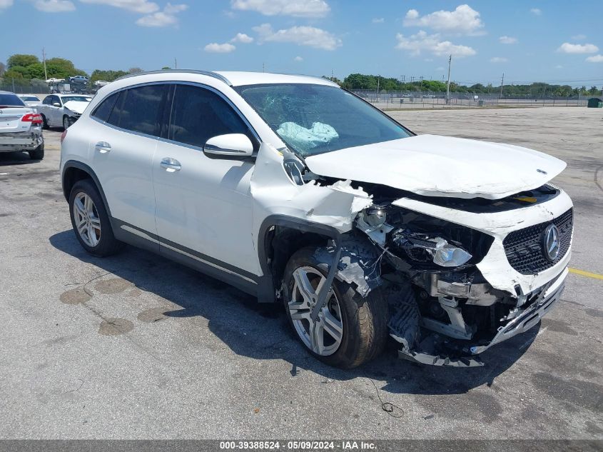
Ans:
[[[16,94],[0,91],[0,152],[19,151],[44,159],[42,117]]]

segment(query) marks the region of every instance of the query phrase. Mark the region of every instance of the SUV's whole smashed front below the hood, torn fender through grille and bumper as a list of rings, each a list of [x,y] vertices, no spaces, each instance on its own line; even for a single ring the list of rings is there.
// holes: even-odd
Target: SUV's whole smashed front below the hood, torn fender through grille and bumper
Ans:
[[[252,179],[263,209],[338,231],[317,251],[328,278],[315,309],[333,278],[363,297],[380,291],[400,358],[482,366],[477,355],[532,328],[561,296],[573,216],[571,200],[553,186],[502,199],[419,196],[318,176],[286,149],[265,152],[254,177],[280,171],[285,203],[275,205],[273,191]],[[561,243],[547,260],[541,242],[550,224]]]

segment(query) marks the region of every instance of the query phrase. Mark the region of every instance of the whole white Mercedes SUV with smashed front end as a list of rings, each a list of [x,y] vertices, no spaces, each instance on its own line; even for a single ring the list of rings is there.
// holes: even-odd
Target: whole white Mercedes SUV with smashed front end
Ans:
[[[350,368],[388,337],[480,366],[559,299],[563,161],[416,135],[325,79],[157,71],[103,86],[64,132],[78,241],[123,243],[283,303],[310,353]]]

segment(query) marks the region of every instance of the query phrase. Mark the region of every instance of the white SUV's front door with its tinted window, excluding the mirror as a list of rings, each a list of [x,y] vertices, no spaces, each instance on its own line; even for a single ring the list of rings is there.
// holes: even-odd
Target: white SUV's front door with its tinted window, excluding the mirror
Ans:
[[[257,141],[215,91],[189,84],[173,89],[167,140],[158,142],[153,159],[159,239],[171,251],[257,275],[251,235],[253,160],[203,154],[213,136],[247,134]]]

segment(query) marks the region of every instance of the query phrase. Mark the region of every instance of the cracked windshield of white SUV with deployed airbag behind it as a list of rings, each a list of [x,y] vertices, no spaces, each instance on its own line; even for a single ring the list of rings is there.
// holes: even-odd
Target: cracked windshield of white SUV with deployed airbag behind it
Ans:
[[[265,84],[235,89],[290,149],[305,157],[411,135],[389,116],[335,86]]]

